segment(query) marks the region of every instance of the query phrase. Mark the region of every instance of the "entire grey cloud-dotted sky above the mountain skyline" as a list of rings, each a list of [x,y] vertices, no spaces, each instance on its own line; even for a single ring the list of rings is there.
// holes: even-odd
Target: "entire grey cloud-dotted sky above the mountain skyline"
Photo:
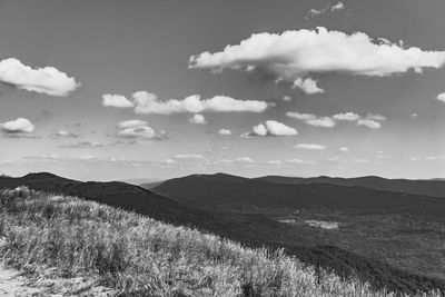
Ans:
[[[0,174],[445,177],[445,1],[1,1]]]

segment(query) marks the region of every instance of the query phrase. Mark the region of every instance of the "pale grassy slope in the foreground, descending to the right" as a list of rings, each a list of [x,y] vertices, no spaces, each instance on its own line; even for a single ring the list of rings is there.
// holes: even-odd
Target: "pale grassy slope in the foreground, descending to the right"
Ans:
[[[279,251],[97,202],[27,188],[2,190],[0,202],[0,255],[31,275],[88,276],[121,296],[390,296]]]

